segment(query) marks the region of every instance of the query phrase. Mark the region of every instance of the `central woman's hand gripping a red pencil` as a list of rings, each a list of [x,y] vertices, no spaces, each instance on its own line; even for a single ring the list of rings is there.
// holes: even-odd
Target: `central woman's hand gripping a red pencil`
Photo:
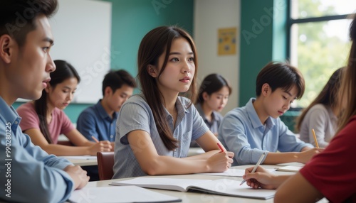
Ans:
[[[212,155],[207,160],[209,172],[224,172],[231,167],[231,164],[234,162],[232,159],[233,157],[234,153],[229,151],[223,151]]]

